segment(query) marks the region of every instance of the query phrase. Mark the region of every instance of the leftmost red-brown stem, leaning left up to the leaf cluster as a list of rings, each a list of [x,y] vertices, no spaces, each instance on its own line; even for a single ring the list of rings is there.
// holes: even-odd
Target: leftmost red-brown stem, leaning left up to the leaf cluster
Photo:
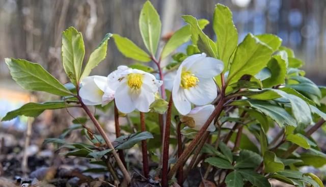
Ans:
[[[93,113],[87,108],[87,106],[84,104],[84,102],[82,101],[82,98],[80,98],[79,96],[77,96],[80,104],[82,105],[82,108],[84,109],[84,111],[86,112],[86,114],[90,117],[90,119],[92,120],[92,122],[94,123],[95,127],[97,128],[97,130],[99,131],[100,135],[103,137],[106,145],[108,146],[108,148],[113,149],[113,151],[111,151],[111,153],[113,154],[114,158],[117,161],[117,164],[121,170],[121,172],[123,173],[127,183],[131,182],[131,177],[127,171],[127,169],[124,167],[118,153],[114,150],[114,146],[112,145],[111,141],[108,139],[108,137],[106,136],[105,131],[103,130],[103,128],[101,127],[101,125],[99,124],[99,122],[96,120],[96,118],[94,117]]]

